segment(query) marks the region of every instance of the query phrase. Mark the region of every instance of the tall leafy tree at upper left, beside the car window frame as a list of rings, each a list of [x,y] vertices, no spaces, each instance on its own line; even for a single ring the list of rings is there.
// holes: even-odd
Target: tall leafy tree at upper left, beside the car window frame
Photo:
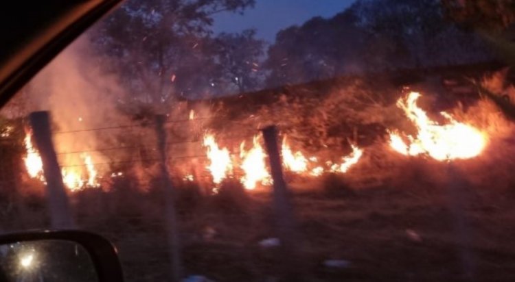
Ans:
[[[93,42],[116,63],[140,101],[166,105],[201,95],[216,73],[208,44],[218,12],[242,12],[254,0],[127,1],[93,31]]]

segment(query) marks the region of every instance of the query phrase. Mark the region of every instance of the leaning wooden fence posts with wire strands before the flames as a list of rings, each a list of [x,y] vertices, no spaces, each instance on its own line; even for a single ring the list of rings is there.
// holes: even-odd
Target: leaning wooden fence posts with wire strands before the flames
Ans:
[[[170,176],[168,175],[168,165],[167,162],[170,160],[167,157],[168,152],[170,150],[166,149],[166,146],[170,146],[167,140],[167,133],[164,129],[164,120],[165,116],[156,116],[156,124],[155,124],[155,135],[157,136],[157,142],[155,142],[155,146],[151,151],[157,151],[158,157],[155,158],[139,158],[139,162],[143,163],[144,161],[156,161],[159,164],[159,170],[157,177],[161,180],[161,190],[163,190],[162,196],[165,199],[164,205],[164,227],[166,230],[166,237],[168,239],[168,259],[170,261],[170,274],[168,277],[170,281],[179,282],[183,278],[182,275],[182,259],[181,259],[181,250],[182,246],[180,243],[180,230],[181,228],[178,225],[178,221],[176,219],[176,207],[175,205],[178,203],[176,200],[176,189],[172,182],[170,181]],[[39,150],[41,155],[42,163],[43,163],[43,172],[45,177],[45,186],[46,186],[46,194],[48,201],[48,209],[50,214],[50,220],[53,228],[69,228],[75,226],[72,211],[70,209],[69,200],[67,194],[65,193],[65,180],[67,178],[66,170],[67,168],[81,166],[81,164],[66,164],[66,165],[58,165],[57,156],[67,156],[67,155],[83,155],[85,153],[93,153],[93,152],[106,152],[113,150],[126,150],[128,146],[113,146],[104,149],[83,149],[82,151],[67,151],[67,152],[58,152],[56,153],[54,149],[54,144],[52,142],[51,133],[50,133],[50,125],[49,125],[49,114],[47,112],[34,112],[30,115],[30,122],[32,125],[32,131],[34,134],[34,140],[36,141],[36,148]],[[147,124],[148,125],[148,124]],[[94,131],[105,131],[105,130],[114,130],[114,129],[126,129],[133,126],[119,126],[119,127],[103,127],[98,129],[82,129],[82,130],[73,130],[73,131],[62,131],[59,133],[54,133],[54,140],[60,140],[56,138],[56,134],[71,134],[71,133],[82,133],[82,132],[94,132]],[[283,242],[281,249],[281,261],[284,261],[286,257],[292,257],[292,252],[295,250],[293,244],[293,213],[291,211],[291,206],[288,200],[288,193],[286,192],[286,185],[284,183],[284,179],[282,177],[282,168],[281,168],[281,158],[279,153],[279,146],[277,145],[277,133],[275,131],[275,127],[268,127],[264,129],[264,139],[266,143],[266,151],[268,151],[269,159],[271,162],[271,170],[273,177],[273,209],[275,210],[274,217],[276,218],[275,228],[277,229],[277,234]],[[141,134],[140,134],[141,136]],[[233,139],[233,138],[231,138]],[[240,137],[238,137],[240,139]],[[67,140],[70,140],[67,138]],[[73,139],[72,139],[73,140]],[[219,140],[220,141],[220,140]],[[62,142],[62,141],[57,141]],[[183,144],[187,142],[192,142],[192,140],[174,142],[174,144]],[[150,145],[151,146],[151,145]],[[147,148],[149,145],[143,144],[137,146],[139,149]],[[157,147],[157,148],[156,148]],[[135,146],[130,146],[131,149],[134,149]],[[185,158],[198,158],[205,157],[204,155],[183,155],[182,159]],[[123,162],[123,161],[122,161]],[[133,160],[125,161],[125,163],[134,162]],[[119,162],[120,163],[120,162]],[[84,157],[84,164],[86,166],[89,177],[93,175],[93,167],[96,165],[113,165],[114,162],[106,162],[106,163],[94,163],[91,162],[91,157]],[[93,175],[94,176],[94,175]],[[91,185],[91,182],[89,182]],[[242,189],[242,188],[241,188]],[[101,198],[100,198],[101,199]],[[92,198],[89,199],[90,201]],[[105,204],[105,203],[104,203]],[[289,216],[286,216],[288,214]],[[285,225],[288,226],[288,229],[285,229]],[[287,231],[285,231],[287,230]],[[286,263],[286,261],[282,264],[284,267],[282,268],[281,275],[284,277],[293,277],[296,272],[296,268],[293,266],[293,263],[290,261]]]

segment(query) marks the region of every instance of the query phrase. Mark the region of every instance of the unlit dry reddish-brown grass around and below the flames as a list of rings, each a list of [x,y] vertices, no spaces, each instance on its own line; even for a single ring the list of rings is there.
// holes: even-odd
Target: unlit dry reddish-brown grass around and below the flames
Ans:
[[[496,85],[499,81],[491,87]],[[365,153],[346,175],[288,177],[300,238],[298,270],[305,281],[467,281],[464,255],[472,261],[474,281],[513,280],[514,128],[494,104],[480,100],[453,110],[457,120],[479,127],[490,139],[480,157],[448,164],[389,149],[382,134],[385,127],[402,127],[402,115],[392,107],[398,94],[380,99],[359,82],[327,90],[324,99],[303,91],[304,100],[279,99],[258,109],[255,118],[218,123],[227,132],[244,127],[249,136],[258,125],[279,123],[296,146],[324,157],[348,152],[350,125],[374,125],[357,137]],[[329,148],[323,151],[321,142]],[[142,188],[139,180],[122,177],[110,190],[70,194],[73,214],[83,229],[113,240],[127,281],[163,281],[169,269],[165,193],[159,181]],[[228,180],[218,194],[210,194],[203,184],[175,179],[174,185],[187,273],[235,282],[277,277],[276,251],[258,246],[276,237],[270,188],[247,192]],[[47,225],[43,194],[30,191],[41,187],[26,187],[14,207],[2,206],[4,230]],[[345,259],[351,267],[328,269],[325,259]]]

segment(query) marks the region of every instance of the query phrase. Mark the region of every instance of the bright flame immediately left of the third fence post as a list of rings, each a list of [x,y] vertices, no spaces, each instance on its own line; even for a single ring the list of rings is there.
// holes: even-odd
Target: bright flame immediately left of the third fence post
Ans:
[[[245,151],[245,142],[240,144],[240,157],[242,159],[241,168],[244,171],[241,181],[245,189],[253,190],[258,183],[262,183],[262,185],[271,183],[270,173],[266,169],[264,160],[266,154],[259,142],[259,136],[254,136],[253,146],[249,151]]]

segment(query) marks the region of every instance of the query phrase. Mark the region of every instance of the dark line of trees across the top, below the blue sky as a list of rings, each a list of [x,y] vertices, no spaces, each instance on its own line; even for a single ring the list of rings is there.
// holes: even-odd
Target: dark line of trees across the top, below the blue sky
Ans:
[[[503,6],[483,12],[492,1]],[[358,0],[332,18],[287,27],[269,43],[253,29],[212,31],[215,14],[244,13],[255,0],[129,0],[89,38],[128,97],[168,105],[350,73],[494,60],[480,31],[504,31],[512,2]]]

